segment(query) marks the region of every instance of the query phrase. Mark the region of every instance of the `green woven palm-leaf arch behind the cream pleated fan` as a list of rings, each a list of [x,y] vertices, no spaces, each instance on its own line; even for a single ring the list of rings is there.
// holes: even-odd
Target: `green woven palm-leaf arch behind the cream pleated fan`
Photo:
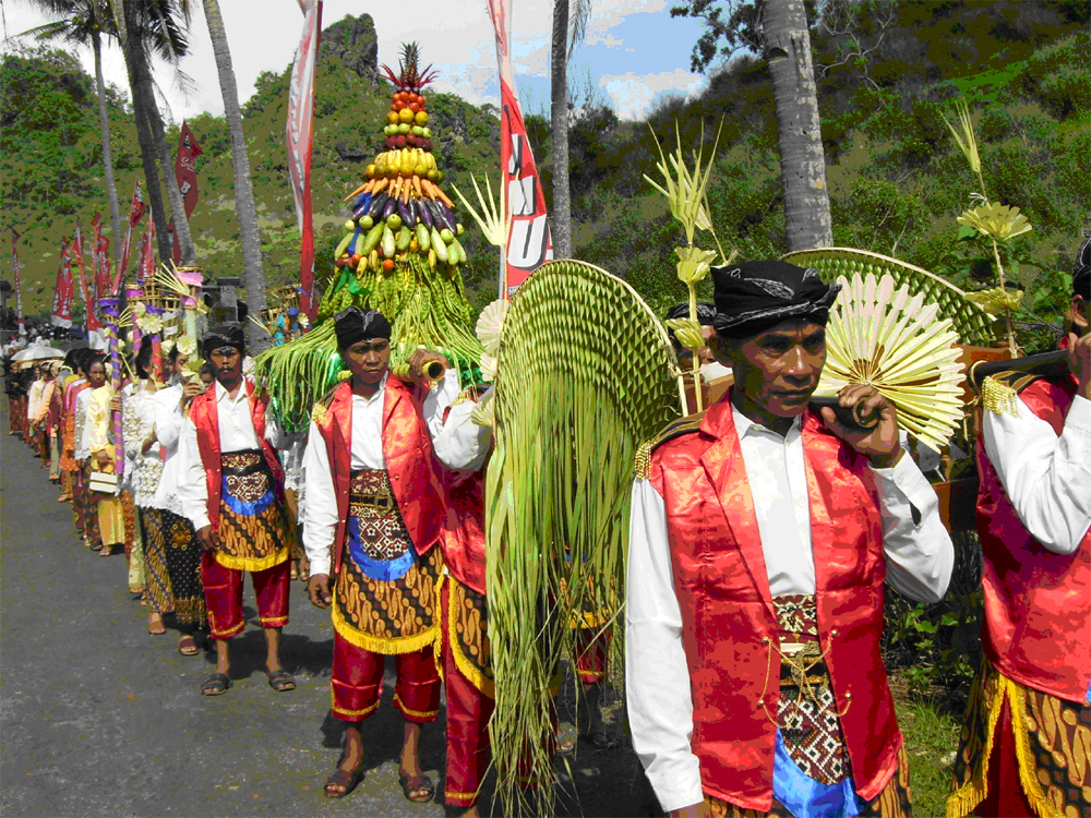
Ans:
[[[938,306],[938,315],[949,318],[961,344],[991,346],[993,317],[980,305],[967,300],[967,293],[939,276],[888,255],[852,248],[800,250],[780,257],[800,267],[814,267],[824,281],[838,276],[889,275],[897,286],[907,285],[911,294],[921,293],[925,301]]]

